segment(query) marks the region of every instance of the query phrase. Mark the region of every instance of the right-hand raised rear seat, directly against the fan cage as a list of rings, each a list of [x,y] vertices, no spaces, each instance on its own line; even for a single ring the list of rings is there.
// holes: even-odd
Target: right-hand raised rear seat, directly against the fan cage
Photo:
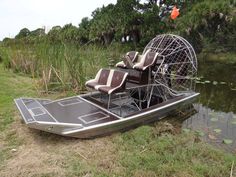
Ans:
[[[158,53],[147,51],[141,58],[140,62],[136,63],[133,68],[138,70],[146,70],[156,63]]]

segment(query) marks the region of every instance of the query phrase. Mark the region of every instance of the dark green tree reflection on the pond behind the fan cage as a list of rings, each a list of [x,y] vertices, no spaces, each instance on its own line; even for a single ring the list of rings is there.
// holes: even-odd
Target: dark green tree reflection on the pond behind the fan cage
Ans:
[[[236,113],[236,64],[200,62],[198,75],[199,102],[214,110]]]

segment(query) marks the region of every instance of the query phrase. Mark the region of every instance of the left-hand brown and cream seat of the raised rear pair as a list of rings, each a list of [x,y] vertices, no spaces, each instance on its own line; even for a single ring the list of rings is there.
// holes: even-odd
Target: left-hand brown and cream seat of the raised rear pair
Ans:
[[[138,52],[137,51],[127,52],[126,55],[123,57],[123,61],[118,62],[116,64],[116,67],[132,68],[133,63],[136,62],[137,58],[138,58]]]

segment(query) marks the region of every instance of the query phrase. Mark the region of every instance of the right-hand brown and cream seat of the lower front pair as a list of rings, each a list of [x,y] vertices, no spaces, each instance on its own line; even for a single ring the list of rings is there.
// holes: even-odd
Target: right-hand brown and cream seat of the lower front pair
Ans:
[[[126,72],[111,70],[107,85],[99,87],[98,90],[109,95],[115,92],[119,92],[124,89],[127,76],[128,73]]]

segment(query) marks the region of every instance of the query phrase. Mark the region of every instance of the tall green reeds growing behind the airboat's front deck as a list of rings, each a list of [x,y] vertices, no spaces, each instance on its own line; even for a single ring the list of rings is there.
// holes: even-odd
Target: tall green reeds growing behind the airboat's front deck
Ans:
[[[109,47],[79,46],[71,43],[52,44],[49,41],[12,42],[1,46],[5,66],[39,78],[37,85],[46,92],[55,90],[83,91],[85,81],[102,67],[115,64],[127,50],[120,44]],[[2,52],[1,52],[2,53]]]

